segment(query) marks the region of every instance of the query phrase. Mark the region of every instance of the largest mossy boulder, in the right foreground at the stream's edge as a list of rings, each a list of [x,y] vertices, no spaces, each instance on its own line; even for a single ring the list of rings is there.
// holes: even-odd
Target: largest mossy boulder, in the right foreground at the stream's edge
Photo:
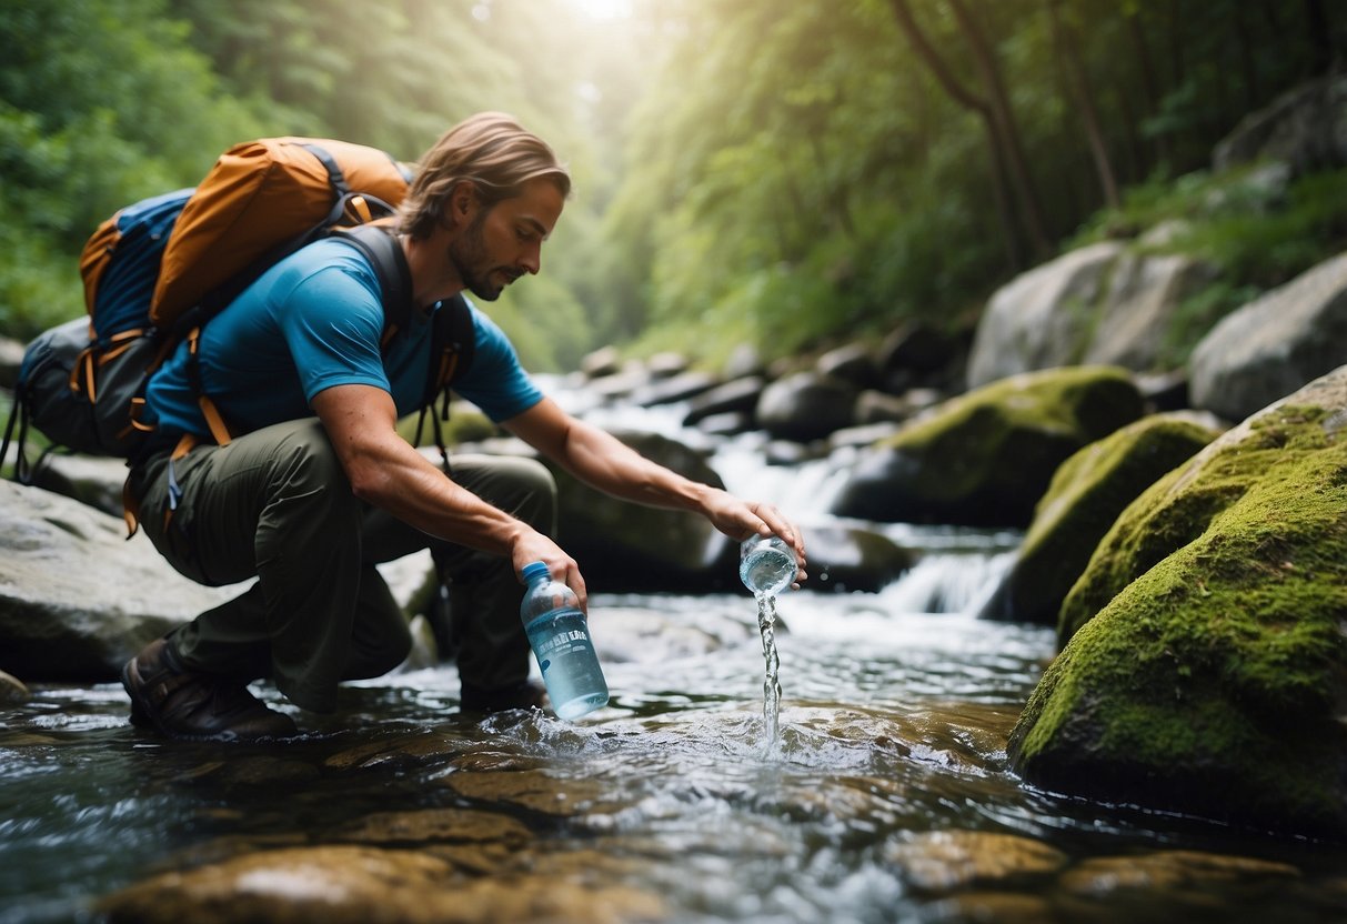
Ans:
[[[1127,506],[1012,731],[1026,780],[1347,836],[1344,430],[1347,366]]]

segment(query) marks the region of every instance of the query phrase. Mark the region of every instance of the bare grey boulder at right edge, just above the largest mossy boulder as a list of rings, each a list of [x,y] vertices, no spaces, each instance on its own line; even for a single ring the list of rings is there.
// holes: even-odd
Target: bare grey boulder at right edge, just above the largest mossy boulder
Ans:
[[[1223,318],[1189,361],[1193,407],[1242,420],[1347,362],[1347,253]]]

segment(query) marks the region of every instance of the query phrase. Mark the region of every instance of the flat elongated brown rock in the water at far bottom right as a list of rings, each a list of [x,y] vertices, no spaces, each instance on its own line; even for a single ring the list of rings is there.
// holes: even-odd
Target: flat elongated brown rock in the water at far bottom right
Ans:
[[[1195,850],[1158,850],[1140,857],[1094,857],[1061,874],[1067,892],[1106,898],[1123,892],[1172,892],[1202,889],[1250,880],[1299,878],[1300,870],[1250,857],[1207,854]]]

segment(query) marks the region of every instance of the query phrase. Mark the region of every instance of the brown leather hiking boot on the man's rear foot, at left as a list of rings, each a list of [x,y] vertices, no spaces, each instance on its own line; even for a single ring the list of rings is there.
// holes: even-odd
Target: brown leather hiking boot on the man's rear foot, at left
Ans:
[[[252,741],[298,734],[294,721],[267,708],[237,680],[183,668],[164,638],[121,668],[131,722],[186,741]]]

